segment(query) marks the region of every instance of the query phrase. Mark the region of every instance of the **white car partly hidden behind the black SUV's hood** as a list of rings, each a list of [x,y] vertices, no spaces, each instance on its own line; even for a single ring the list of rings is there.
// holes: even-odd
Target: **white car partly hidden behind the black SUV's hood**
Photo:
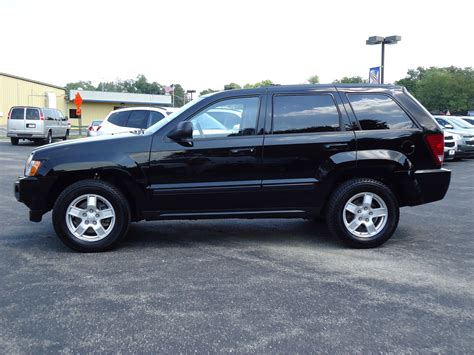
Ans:
[[[168,112],[155,107],[128,107],[118,109],[107,115],[101,124],[100,130],[97,131],[97,135],[129,132],[133,129],[146,129],[168,116],[171,111]]]

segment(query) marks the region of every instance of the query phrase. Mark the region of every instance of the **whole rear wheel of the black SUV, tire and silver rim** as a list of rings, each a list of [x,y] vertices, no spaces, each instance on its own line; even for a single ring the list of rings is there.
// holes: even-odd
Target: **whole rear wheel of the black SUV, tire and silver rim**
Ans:
[[[380,181],[346,181],[331,195],[326,221],[331,233],[355,248],[385,243],[398,225],[400,211],[392,190]]]

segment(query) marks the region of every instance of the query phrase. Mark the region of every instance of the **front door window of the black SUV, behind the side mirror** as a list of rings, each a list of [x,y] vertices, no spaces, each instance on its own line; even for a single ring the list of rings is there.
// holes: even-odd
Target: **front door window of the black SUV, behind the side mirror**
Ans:
[[[253,135],[257,128],[259,106],[260,99],[258,97],[219,101],[191,119],[193,123],[193,138]],[[226,126],[214,117],[216,112],[229,111],[237,118],[232,126],[230,124]]]

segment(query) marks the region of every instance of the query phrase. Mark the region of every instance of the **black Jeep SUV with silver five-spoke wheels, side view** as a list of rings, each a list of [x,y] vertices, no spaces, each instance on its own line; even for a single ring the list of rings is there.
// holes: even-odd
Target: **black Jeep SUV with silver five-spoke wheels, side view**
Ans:
[[[59,238],[103,251],[130,221],[318,218],[354,247],[440,200],[443,133],[405,89],[271,86],[202,96],[146,130],[35,149],[17,199]]]

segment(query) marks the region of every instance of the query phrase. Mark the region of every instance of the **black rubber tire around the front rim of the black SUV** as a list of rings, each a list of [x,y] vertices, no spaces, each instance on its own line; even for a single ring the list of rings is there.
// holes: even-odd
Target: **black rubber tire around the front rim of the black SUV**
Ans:
[[[66,222],[69,205],[85,194],[107,199],[115,212],[115,223],[109,234],[98,241],[84,241],[71,233]],[[59,239],[76,251],[102,252],[113,248],[127,233],[130,225],[130,207],[123,193],[112,184],[101,180],[82,180],[67,187],[57,198],[53,208],[53,226]],[[91,225],[92,227],[92,225]]]

